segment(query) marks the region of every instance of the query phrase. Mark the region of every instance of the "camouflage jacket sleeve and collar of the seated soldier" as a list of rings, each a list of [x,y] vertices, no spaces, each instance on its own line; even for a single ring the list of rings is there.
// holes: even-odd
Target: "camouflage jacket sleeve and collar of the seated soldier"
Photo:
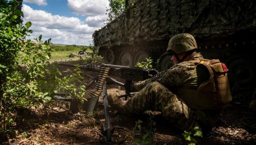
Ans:
[[[193,54],[189,60],[197,59],[203,59],[202,55],[199,52]],[[140,89],[145,87],[147,83],[152,81],[158,81],[165,87],[173,90],[176,87],[184,84],[191,78],[194,73],[195,67],[196,65],[189,61],[183,61],[178,64],[174,64],[169,69],[159,72],[155,80],[149,78],[134,83],[134,88],[135,90],[139,91]]]

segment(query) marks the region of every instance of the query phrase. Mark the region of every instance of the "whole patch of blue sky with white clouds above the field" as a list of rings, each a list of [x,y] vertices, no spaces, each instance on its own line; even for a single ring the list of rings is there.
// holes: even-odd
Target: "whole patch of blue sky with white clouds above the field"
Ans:
[[[23,21],[33,33],[55,44],[88,45],[94,30],[104,26],[108,0],[23,0]]]

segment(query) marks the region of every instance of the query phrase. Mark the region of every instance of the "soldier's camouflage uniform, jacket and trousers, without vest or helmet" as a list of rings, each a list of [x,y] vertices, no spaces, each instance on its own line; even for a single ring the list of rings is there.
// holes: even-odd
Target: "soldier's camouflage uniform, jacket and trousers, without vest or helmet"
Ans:
[[[201,54],[193,54],[190,60],[194,59],[202,59]],[[184,61],[161,71],[155,80],[135,83],[134,88],[139,92],[126,102],[122,111],[136,114],[145,110],[160,111],[163,117],[180,129],[189,130],[198,125],[205,130],[210,129],[219,111],[192,109],[173,93],[175,88],[189,81],[195,71],[196,65]]]

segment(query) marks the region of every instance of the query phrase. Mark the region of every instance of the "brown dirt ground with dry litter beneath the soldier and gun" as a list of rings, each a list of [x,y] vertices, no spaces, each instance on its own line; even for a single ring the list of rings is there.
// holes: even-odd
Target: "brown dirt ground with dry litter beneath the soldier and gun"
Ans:
[[[66,67],[60,67],[62,73],[71,73]],[[89,75],[95,73],[85,72]],[[84,79],[86,83],[89,77]],[[123,91],[117,85],[109,85],[108,93]],[[221,112],[220,119],[207,137],[196,138],[197,144],[256,144],[256,112],[247,106],[252,91],[235,95],[230,105]],[[90,114],[82,112],[73,114],[68,102],[58,102],[52,108],[30,108],[20,110],[16,124],[18,135],[9,137],[3,144],[103,144],[99,141],[101,124],[104,122],[103,100]],[[148,116],[124,115],[110,108],[111,126],[120,126],[112,136],[113,144],[137,144],[136,121],[142,121],[142,132],[148,129]],[[152,144],[187,144],[182,131],[175,129],[161,117],[160,113],[152,116],[155,133],[150,137]]]

